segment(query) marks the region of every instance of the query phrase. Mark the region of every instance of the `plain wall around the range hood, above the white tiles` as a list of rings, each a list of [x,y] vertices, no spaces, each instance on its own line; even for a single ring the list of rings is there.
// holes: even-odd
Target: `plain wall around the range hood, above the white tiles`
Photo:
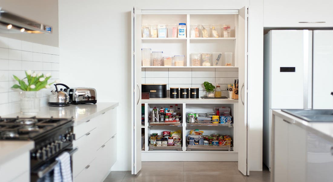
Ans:
[[[0,0],[4,10],[52,26],[52,34],[2,33],[0,36],[58,47],[58,0]]]

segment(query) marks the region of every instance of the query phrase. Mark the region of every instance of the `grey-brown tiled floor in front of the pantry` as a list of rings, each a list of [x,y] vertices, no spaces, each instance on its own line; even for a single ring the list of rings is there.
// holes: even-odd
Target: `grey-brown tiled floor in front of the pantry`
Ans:
[[[244,176],[237,162],[142,162],[137,175],[112,171],[104,182],[269,182],[270,172],[251,171]]]

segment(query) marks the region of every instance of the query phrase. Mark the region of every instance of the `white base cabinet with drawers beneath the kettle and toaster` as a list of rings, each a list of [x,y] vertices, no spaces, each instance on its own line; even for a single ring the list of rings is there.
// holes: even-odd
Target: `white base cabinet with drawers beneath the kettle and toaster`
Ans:
[[[73,177],[76,182],[103,181],[117,160],[117,109],[74,127]]]

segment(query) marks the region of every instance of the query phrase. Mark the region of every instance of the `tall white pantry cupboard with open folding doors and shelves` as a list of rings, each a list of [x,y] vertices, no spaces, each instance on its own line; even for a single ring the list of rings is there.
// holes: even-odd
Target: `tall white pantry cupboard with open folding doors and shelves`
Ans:
[[[132,48],[133,48],[133,57],[132,57],[132,174],[137,174],[141,170],[142,162],[142,153],[146,152],[145,159],[149,154],[152,158],[159,158],[159,156],[169,155],[170,156],[184,156],[182,159],[192,159],[196,161],[196,158],[202,157],[203,153],[206,153],[211,156],[216,156],[219,160],[225,160],[232,158],[234,154],[237,154],[236,160],[238,161],[238,169],[244,175],[249,174],[247,168],[247,19],[248,13],[247,8],[243,7],[241,9],[214,9],[214,10],[205,10],[205,9],[170,9],[170,10],[150,10],[150,9],[133,9],[133,21],[132,21]],[[178,24],[186,23],[186,37],[185,38],[142,38],[142,25],[146,24]],[[230,37],[207,37],[207,38],[193,38],[190,37],[190,27],[193,24],[229,24],[231,33]],[[208,31],[212,33],[212,26]],[[183,66],[174,66],[172,63],[171,66],[154,66],[153,61],[151,60],[150,66],[142,66],[142,48],[152,48],[153,51],[163,51],[164,55],[184,55],[184,65]],[[191,53],[222,53],[222,56],[226,52],[232,53],[232,66],[225,65],[216,65],[211,64],[211,66],[193,66],[191,61]],[[212,58],[213,60],[214,57]],[[224,58],[222,58],[223,60]],[[213,128],[207,127],[206,129],[213,132],[224,131],[230,132],[230,135],[234,135],[234,141],[237,143],[234,151],[186,151],[185,141],[183,141],[183,148],[181,151],[142,151],[141,147],[141,70],[142,68],[165,70],[172,68],[174,71],[183,71],[184,68],[196,68],[196,69],[207,69],[207,68],[238,68],[238,79],[239,79],[239,100],[235,103],[230,104],[234,109],[233,117],[237,121],[235,123],[235,128],[219,128],[214,130]],[[231,69],[230,69],[231,70]],[[145,101],[146,107],[152,107],[154,104],[151,103],[150,99]],[[190,100],[190,99],[189,99]],[[151,103],[151,104],[150,104]],[[173,102],[174,103],[174,102]],[[172,105],[168,101],[161,101],[158,104],[163,104],[165,106]],[[209,101],[201,103],[188,104],[187,102],[179,102],[182,106],[182,116],[185,118],[185,108],[190,110],[191,107],[193,110],[197,106],[202,106],[203,108],[212,108],[214,107]],[[198,105],[196,105],[198,104]],[[215,103],[214,103],[215,104]],[[226,104],[224,101],[216,103],[217,106]],[[146,114],[148,110],[146,109]],[[146,121],[148,121],[148,116],[146,116]],[[184,121],[184,120],[183,120]],[[166,130],[174,126],[166,126]],[[145,134],[149,135],[151,132],[155,132],[154,128],[148,129],[148,123],[146,123]],[[155,127],[156,128],[156,127]],[[158,128],[158,127],[157,127]],[[178,129],[182,129],[183,137],[187,135],[189,127],[186,128],[185,123],[182,126],[179,126]],[[162,130],[162,128],[157,129],[156,131]],[[147,139],[147,137],[146,137]],[[146,140],[147,143],[147,140]],[[146,144],[147,146],[147,144]],[[148,148],[146,147],[146,150]],[[201,153],[201,154],[200,154]],[[211,158],[210,156],[210,158]],[[237,159],[238,158],[238,159]],[[209,159],[209,157],[205,158]],[[179,159],[180,160],[180,159]]]

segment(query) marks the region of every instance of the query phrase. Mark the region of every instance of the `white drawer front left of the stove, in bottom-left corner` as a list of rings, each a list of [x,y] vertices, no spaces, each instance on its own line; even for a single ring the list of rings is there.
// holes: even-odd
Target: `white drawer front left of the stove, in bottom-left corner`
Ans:
[[[30,152],[25,152],[10,161],[1,163],[0,181],[12,181],[26,171],[30,171]]]

